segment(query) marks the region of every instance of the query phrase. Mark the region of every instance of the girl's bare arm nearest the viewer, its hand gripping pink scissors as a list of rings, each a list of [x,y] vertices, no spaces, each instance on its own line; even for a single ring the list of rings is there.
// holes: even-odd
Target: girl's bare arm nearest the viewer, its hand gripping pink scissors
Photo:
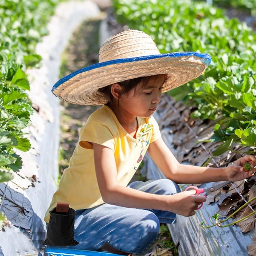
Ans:
[[[130,208],[160,209],[190,216],[206,200],[202,195],[194,195],[194,190],[176,195],[154,195],[119,185],[113,151],[93,143],[93,153],[96,177],[105,203]]]

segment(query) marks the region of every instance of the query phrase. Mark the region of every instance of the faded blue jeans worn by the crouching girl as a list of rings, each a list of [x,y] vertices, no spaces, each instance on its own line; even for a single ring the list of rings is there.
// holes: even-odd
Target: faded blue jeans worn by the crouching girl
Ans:
[[[180,192],[179,186],[168,179],[135,181],[129,187],[158,195]],[[79,244],[72,248],[95,251],[107,242],[120,251],[141,254],[157,238],[160,223],[175,221],[172,212],[111,204],[76,210],[74,235]]]

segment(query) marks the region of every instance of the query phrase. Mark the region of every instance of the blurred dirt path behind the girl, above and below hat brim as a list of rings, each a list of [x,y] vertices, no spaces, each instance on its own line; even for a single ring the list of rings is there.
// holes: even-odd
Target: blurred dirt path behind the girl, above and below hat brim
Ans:
[[[85,21],[73,33],[70,44],[63,54],[61,77],[98,62],[97,52],[99,52],[99,46],[97,42],[99,40],[99,24],[104,17],[105,13],[102,13],[98,18]],[[88,116],[96,108],[98,107],[61,102],[61,172],[68,166],[68,160],[78,140],[79,128],[87,121]]]

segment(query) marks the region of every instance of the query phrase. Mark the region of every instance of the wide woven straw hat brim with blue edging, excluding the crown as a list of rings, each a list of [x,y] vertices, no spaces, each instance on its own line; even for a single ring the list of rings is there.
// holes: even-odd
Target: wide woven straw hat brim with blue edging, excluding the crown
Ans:
[[[79,105],[107,103],[100,88],[142,76],[168,74],[163,86],[167,92],[197,78],[211,63],[208,54],[173,52],[159,55],[105,61],[77,70],[57,81],[52,93],[66,102]]]

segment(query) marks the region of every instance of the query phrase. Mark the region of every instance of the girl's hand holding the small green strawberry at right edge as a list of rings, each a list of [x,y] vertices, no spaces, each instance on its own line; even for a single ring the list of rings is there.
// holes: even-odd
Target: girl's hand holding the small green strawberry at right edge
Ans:
[[[243,166],[246,163],[249,163],[251,166],[251,170],[249,172],[244,172]],[[255,169],[253,169],[254,166],[256,166],[256,160],[252,155],[239,158],[232,165],[225,168],[228,178],[227,180],[237,181],[253,176],[255,172]]]

